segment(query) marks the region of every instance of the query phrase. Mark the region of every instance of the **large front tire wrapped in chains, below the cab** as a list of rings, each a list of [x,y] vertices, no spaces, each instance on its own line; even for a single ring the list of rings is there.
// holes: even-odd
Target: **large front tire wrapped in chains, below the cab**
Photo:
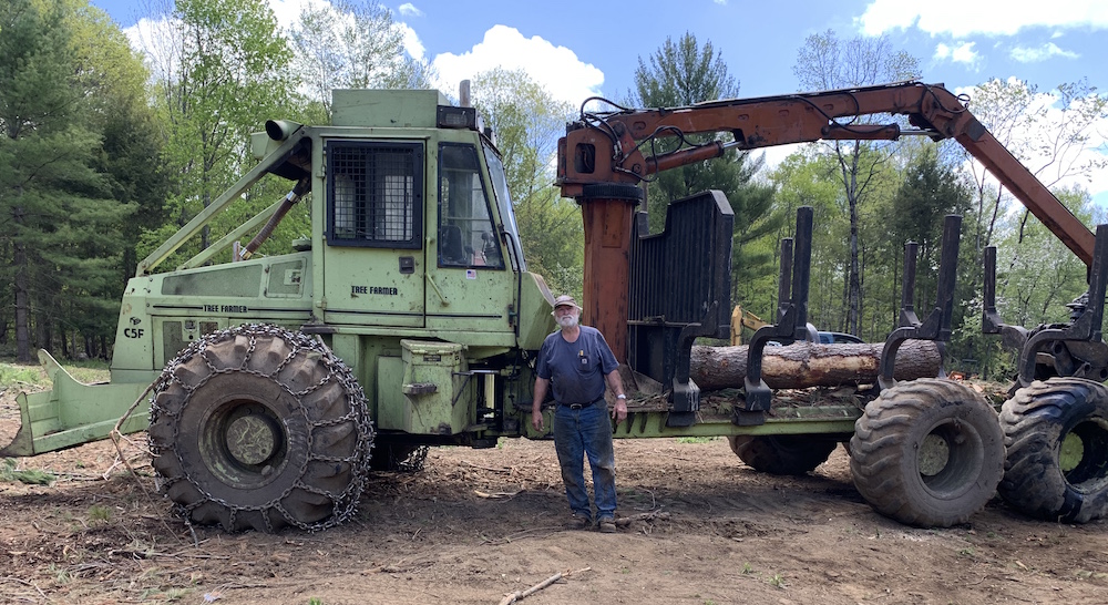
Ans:
[[[242,326],[166,366],[150,441],[160,488],[186,522],[316,531],[353,514],[373,429],[358,381],[321,342]]]

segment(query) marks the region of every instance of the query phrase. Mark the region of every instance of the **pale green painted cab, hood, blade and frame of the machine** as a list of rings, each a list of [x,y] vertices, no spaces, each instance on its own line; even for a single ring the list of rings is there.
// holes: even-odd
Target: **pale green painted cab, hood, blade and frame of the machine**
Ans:
[[[532,365],[555,328],[553,296],[526,270],[497,152],[475,129],[438,127],[445,104],[434,91],[336,91],[332,124],[285,123],[277,140],[255,135],[257,166],[140,263],[127,284],[112,382],[81,384],[44,356],[53,389],[20,396],[23,427],[6,452],[103,439],[183,348],[246,322],[320,335],[352,369],[390,439],[484,445],[543,437],[531,429]],[[310,185],[298,203],[310,205],[311,233],[295,249],[205,266],[256,233],[275,203],[176,270],[154,273],[267,174],[288,176],[289,188],[301,177]],[[782,406],[763,424],[739,427],[724,406],[675,429],[664,404],[650,410],[614,427],[615,437],[845,439],[861,414],[852,406]],[[143,430],[146,419],[140,401],[122,430]],[[202,439],[211,464],[279,457],[285,438],[270,420],[228,411]]]

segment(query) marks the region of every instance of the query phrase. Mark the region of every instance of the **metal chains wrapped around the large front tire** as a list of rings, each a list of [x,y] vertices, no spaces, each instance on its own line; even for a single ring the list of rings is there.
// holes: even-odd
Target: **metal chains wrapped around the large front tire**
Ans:
[[[224,340],[234,339],[238,336],[247,336],[250,339],[250,347],[247,350],[247,353],[243,358],[243,362],[238,368],[227,368],[223,370],[217,369],[212,365],[212,362],[207,359],[207,357],[204,356],[204,352],[207,350],[208,346],[222,342]],[[245,369],[246,363],[250,360],[250,357],[254,355],[254,349],[257,343],[257,338],[259,336],[268,336],[268,337],[284,339],[286,342],[290,345],[291,348],[291,350],[285,357],[285,359],[269,375],[264,375],[261,372]],[[308,451],[309,452],[311,451],[311,429],[315,429],[317,427],[339,424],[351,420],[355,422],[358,429],[359,443],[361,443],[362,447],[359,448],[358,451],[353,453],[353,455],[347,458],[322,457],[318,454],[307,455],[299,469],[298,479],[295,482],[293,482],[293,484],[289,485],[284,492],[281,492],[281,494],[278,498],[273,499],[273,501],[270,501],[269,504],[263,504],[257,506],[242,506],[234,504],[232,502],[227,502],[224,499],[213,496],[206,491],[201,490],[199,486],[197,486],[196,483],[187,476],[187,473],[179,476],[164,476],[155,468],[155,482],[158,488],[158,491],[161,491],[162,493],[166,493],[168,488],[177,481],[187,481],[193,485],[193,488],[196,489],[197,492],[204,495],[205,500],[201,500],[198,502],[189,504],[188,506],[175,503],[177,513],[181,514],[181,516],[185,520],[186,523],[191,524],[189,512],[207,502],[218,503],[225,506],[230,512],[232,527],[234,527],[235,525],[235,517],[238,515],[238,513],[248,511],[260,512],[261,519],[265,521],[266,524],[267,533],[274,532],[274,527],[270,525],[269,515],[267,514],[267,509],[274,509],[278,511],[289,524],[295,525],[300,530],[305,530],[308,532],[318,532],[321,530],[326,530],[328,527],[334,527],[349,520],[355,514],[355,512],[357,511],[358,501],[361,498],[361,492],[366,485],[366,476],[369,473],[370,451],[373,447],[373,425],[372,421],[369,419],[369,414],[367,413],[368,406],[366,401],[366,393],[362,390],[361,384],[358,383],[358,380],[353,377],[353,372],[350,371],[349,367],[347,367],[347,365],[341,359],[335,356],[335,353],[331,352],[330,348],[327,347],[321,340],[312,339],[299,331],[291,331],[269,324],[244,324],[242,326],[236,326],[207,334],[202,338],[199,338],[198,340],[193,341],[191,345],[188,345],[188,347],[183,349],[177,355],[177,357],[175,357],[172,361],[166,363],[165,368],[162,370],[162,373],[158,376],[157,380],[154,381],[154,388],[151,392],[151,398],[150,398],[150,404],[151,404],[150,423],[151,425],[153,425],[163,413],[168,416],[176,416],[176,413],[174,413],[173,411],[165,410],[156,403],[157,396],[162,391],[167,389],[173,382],[177,382],[182,389],[188,392],[188,397],[191,397],[193,391],[195,391],[204,383],[206,383],[213,376],[219,373],[240,371],[240,372],[257,373],[258,376],[265,376],[267,378],[274,378],[301,350],[311,350],[320,353],[320,361],[325,363],[329,370],[327,376],[325,376],[318,384],[314,384],[299,392],[293,392],[288,390],[288,388],[286,388],[284,384],[280,384],[279,382],[278,384],[280,384],[281,388],[284,388],[287,392],[289,392],[290,394],[296,397],[297,400],[299,400],[300,397],[304,397],[305,394],[321,388],[324,384],[327,384],[332,378],[337,377],[339,384],[342,386],[342,390],[349,399],[349,406],[350,406],[350,411],[347,412],[346,416],[342,416],[337,419],[326,420],[322,422],[311,422],[310,420],[305,418],[306,424],[309,428],[308,443],[307,443]],[[188,387],[176,379],[175,372],[177,368],[179,368],[187,361],[192,360],[196,356],[199,356],[201,359],[204,360],[204,363],[208,367],[211,373],[208,373],[208,376],[205,377],[199,383],[193,387]],[[188,398],[186,397],[186,403],[187,399]],[[184,404],[182,406],[182,409],[183,408]],[[181,455],[173,447],[173,444],[175,444],[176,442],[177,442],[177,424],[174,422],[173,439],[170,445],[170,450],[172,454],[177,459],[177,462],[179,463],[181,468],[184,469],[184,463],[181,460]],[[150,448],[151,452],[155,458],[162,455],[163,450],[165,449],[162,445],[155,443],[153,439],[150,439]],[[425,452],[423,455],[424,457],[427,455]],[[302,478],[307,472],[308,464],[314,461],[349,463],[351,466],[353,481],[351,481],[350,484],[347,485],[346,489],[339,494],[331,494],[324,490],[319,490],[317,488],[307,485],[301,481],[300,478]],[[286,511],[285,507],[280,504],[280,502],[285,498],[287,498],[293,492],[294,489],[301,489],[304,491],[321,494],[331,499],[331,501],[334,502],[334,512],[324,521],[316,523],[305,523],[302,521],[297,520],[294,515],[289,514],[288,511]]]

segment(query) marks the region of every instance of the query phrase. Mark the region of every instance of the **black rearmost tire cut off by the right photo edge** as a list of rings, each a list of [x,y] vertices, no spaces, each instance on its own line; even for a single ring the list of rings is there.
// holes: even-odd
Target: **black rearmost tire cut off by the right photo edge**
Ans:
[[[1037,519],[1086,523],[1108,512],[1108,388],[1051,378],[1001,409],[1007,459],[999,492]]]

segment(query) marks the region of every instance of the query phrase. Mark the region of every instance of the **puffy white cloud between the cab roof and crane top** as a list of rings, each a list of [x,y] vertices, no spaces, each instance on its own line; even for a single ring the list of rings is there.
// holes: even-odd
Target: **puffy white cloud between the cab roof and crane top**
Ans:
[[[431,64],[439,72],[439,89],[451,92],[462,80],[495,68],[523,70],[556,99],[575,105],[599,94],[604,83],[604,72],[582,62],[572,50],[537,35],[524,38],[506,25],[493,25],[469,51],[439,54]]]

